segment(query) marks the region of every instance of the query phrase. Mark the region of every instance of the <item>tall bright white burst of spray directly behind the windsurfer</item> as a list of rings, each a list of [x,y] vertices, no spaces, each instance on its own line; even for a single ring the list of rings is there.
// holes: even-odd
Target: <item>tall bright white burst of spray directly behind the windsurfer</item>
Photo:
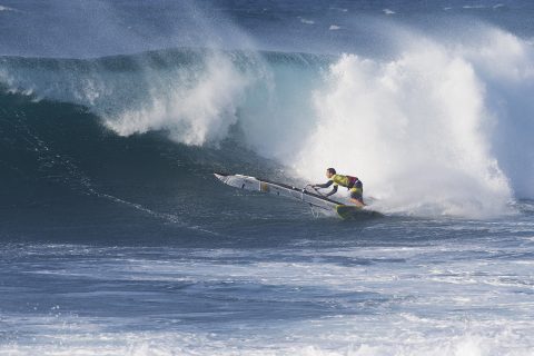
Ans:
[[[304,174],[359,175],[393,211],[498,214],[511,197],[481,129],[492,121],[484,88],[462,58],[438,48],[385,63],[344,56],[315,105]]]

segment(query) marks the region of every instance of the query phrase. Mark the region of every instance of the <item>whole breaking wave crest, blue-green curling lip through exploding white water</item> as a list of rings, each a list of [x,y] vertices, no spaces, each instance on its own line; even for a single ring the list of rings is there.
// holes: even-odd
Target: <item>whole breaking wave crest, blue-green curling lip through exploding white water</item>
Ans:
[[[484,217],[533,198],[532,46],[485,28],[467,41],[405,30],[397,47],[388,58],[194,48],[99,59],[2,57],[1,99],[12,108],[3,109],[4,126],[44,100],[49,111],[36,117],[53,118],[55,131],[47,140],[12,141],[4,128],[10,149],[1,159],[14,172],[22,164],[9,155],[44,150],[57,135],[82,135],[98,146],[109,135],[102,132],[162,132],[165,145],[179,149],[236,142],[307,181],[336,167],[359,176],[375,207],[388,212]],[[66,105],[78,109],[55,111]],[[82,117],[90,115],[96,123],[88,130],[100,136],[72,125],[87,125]],[[31,131],[47,123],[28,125]]]

